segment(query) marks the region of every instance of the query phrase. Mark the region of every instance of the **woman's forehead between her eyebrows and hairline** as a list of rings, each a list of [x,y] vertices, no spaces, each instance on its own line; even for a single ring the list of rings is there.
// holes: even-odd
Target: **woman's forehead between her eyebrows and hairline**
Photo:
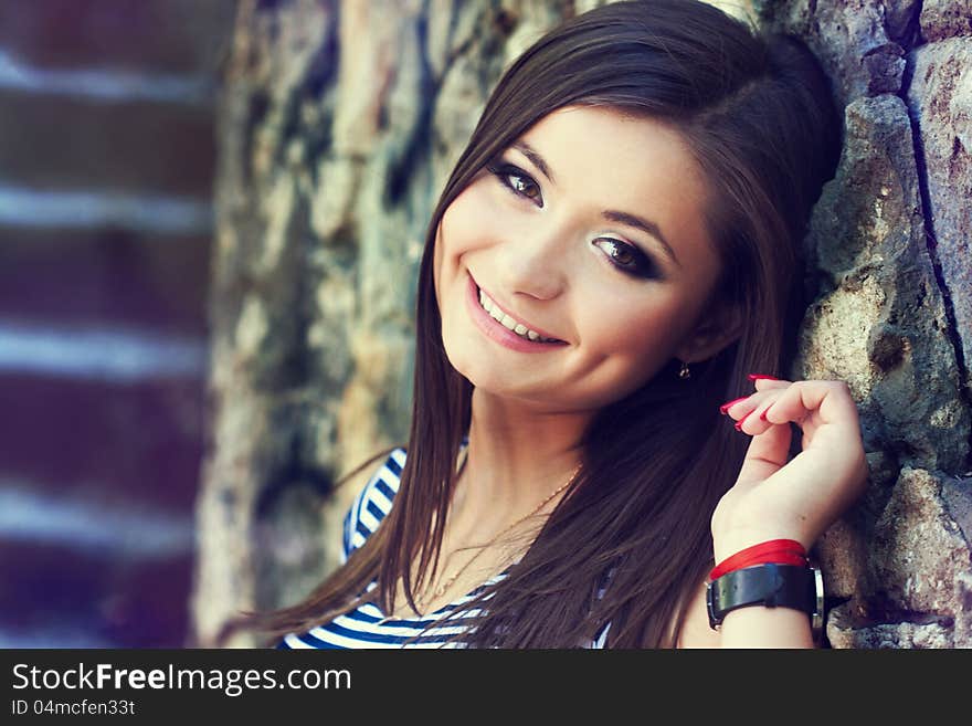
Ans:
[[[610,108],[568,106],[541,118],[521,139],[543,158],[554,193],[571,206],[645,217],[676,253],[708,243],[702,222],[707,186],[687,143],[670,125]]]

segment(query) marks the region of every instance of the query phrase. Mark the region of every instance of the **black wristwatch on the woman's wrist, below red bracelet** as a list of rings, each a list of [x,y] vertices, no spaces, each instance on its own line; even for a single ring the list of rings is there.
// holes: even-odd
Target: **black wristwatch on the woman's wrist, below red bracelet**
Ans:
[[[816,640],[824,617],[821,571],[812,565],[756,565],[726,572],[706,586],[706,607],[714,630],[728,613],[747,606],[802,610],[810,615]]]

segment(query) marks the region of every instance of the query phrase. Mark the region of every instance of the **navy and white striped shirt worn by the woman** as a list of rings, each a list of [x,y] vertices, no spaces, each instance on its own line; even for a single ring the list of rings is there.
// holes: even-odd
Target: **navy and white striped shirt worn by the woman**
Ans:
[[[463,446],[468,438],[463,440]],[[384,464],[371,476],[359,492],[344,520],[344,546],[341,564],[350,554],[364,544],[379,523],[389,513],[399,488],[402,467],[405,464],[405,450],[398,448],[391,452]],[[464,643],[446,642],[451,635],[463,632],[480,612],[473,609],[448,614],[459,606],[479,595],[485,587],[506,577],[508,570],[493,576],[486,582],[458,600],[415,618],[387,620],[378,604],[366,602],[353,610],[338,615],[328,623],[311,628],[305,633],[288,633],[277,644],[277,649],[363,649],[363,648],[464,648]],[[378,587],[371,581],[366,591]],[[425,630],[427,625],[441,621]],[[603,648],[610,623],[601,629],[598,636],[587,648]]]

